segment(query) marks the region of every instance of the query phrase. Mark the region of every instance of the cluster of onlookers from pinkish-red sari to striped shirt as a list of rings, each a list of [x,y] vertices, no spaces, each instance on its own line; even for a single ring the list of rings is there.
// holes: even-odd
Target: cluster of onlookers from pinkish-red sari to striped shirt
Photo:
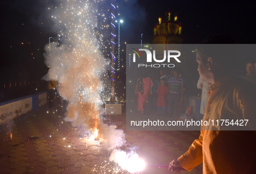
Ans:
[[[138,94],[138,111],[144,113],[144,104],[152,95],[152,109],[157,108],[158,115],[169,113],[170,116],[177,117],[179,105],[183,98],[183,80],[180,77],[178,69],[172,69],[167,76],[164,70],[160,70],[160,79],[156,75],[152,79],[145,70],[137,79],[135,94]]]

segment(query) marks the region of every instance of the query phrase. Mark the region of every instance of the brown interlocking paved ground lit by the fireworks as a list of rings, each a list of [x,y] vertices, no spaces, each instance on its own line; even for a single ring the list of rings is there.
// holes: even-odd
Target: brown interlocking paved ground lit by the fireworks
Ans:
[[[56,108],[55,108],[56,109]],[[10,174],[128,174],[108,161],[110,152],[100,141],[84,138],[81,129],[63,120],[63,111],[42,108],[0,126],[0,173]],[[147,165],[169,165],[188,150],[199,131],[128,131],[126,114],[112,116],[123,129],[127,144]],[[12,141],[10,138],[12,133]],[[202,165],[191,172],[201,174]],[[166,168],[146,167],[139,174],[171,174]]]

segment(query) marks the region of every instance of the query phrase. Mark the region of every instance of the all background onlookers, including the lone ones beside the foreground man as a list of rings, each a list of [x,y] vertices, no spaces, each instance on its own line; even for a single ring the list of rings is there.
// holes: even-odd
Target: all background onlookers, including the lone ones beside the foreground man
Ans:
[[[246,74],[239,76],[256,85],[256,62],[246,63]],[[198,79],[197,88],[202,89],[200,114],[204,114],[209,98],[208,90],[211,83]],[[144,90],[143,90],[144,89]],[[138,94],[138,111],[144,114],[144,104],[150,103],[150,110],[155,110],[158,116],[178,117],[183,100],[184,81],[178,68],[170,71],[159,70],[148,73],[143,70],[137,79],[135,94]]]

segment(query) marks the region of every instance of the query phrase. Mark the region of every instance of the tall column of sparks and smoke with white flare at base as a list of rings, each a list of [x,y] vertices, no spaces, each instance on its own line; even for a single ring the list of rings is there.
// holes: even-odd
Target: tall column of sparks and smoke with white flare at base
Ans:
[[[73,127],[83,125],[86,130],[91,130],[94,138],[99,136],[111,152],[109,160],[117,162],[123,170],[131,173],[139,171],[145,165],[138,155],[133,151],[127,153],[120,150],[126,143],[123,130],[103,124],[100,120],[103,111],[100,108],[100,92],[104,89],[100,78],[110,68],[110,61],[100,54],[99,45],[103,36],[95,32],[95,28],[108,27],[97,26],[97,16],[101,15],[96,8],[99,2],[58,2],[57,6],[49,7],[58,38],[51,43],[51,51],[49,45],[45,46],[45,64],[50,67],[45,79],[57,81],[58,93],[69,101],[65,121],[70,121]],[[112,66],[110,70],[113,75]]]

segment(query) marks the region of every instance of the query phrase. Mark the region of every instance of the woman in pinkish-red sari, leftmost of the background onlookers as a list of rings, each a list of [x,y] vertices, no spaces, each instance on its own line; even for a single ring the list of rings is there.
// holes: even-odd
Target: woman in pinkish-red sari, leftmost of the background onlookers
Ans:
[[[142,76],[137,79],[135,94],[138,94],[138,111],[141,114],[144,113],[144,104],[150,95],[152,95],[153,81],[146,75],[146,72],[142,73]]]

